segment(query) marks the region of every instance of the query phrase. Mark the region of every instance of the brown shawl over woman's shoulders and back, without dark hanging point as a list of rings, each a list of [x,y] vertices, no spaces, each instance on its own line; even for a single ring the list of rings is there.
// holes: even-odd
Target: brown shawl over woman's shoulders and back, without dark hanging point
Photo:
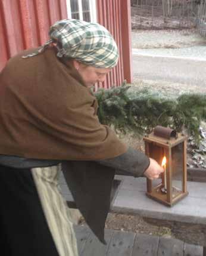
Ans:
[[[33,51],[33,50],[32,50]],[[96,115],[97,101],[52,48],[11,58],[0,73],[0,154],[95,161],[127,148]]]

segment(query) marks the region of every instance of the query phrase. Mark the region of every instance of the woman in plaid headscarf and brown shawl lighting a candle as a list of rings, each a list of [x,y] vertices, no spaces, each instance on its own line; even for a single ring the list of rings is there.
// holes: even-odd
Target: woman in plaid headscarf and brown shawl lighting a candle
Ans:
[[[103,82],[118,61],[108,30],[61,20],[49,37],[43,47],[11,58],[0,74],[5,255],[77,255],[69,212],[57,188],[61,168],[101,242],[115,169],[151,179],[163,172],[99,123],[89,88]]]

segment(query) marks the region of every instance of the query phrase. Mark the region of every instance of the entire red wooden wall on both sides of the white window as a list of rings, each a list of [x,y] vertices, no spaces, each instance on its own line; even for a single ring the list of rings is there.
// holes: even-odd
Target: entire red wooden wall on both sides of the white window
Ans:
[[[99,87],[132,81],[130,0],[96,0],[98,22],[113,34],[120,60]],[[0,0],[0,70],[21,50],[48,39],[49,26],[67,18],[66,0]]]

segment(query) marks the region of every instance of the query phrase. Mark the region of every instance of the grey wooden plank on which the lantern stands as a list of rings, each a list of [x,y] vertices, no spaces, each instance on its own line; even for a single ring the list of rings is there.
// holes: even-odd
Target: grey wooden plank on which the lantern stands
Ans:
[[[129,177],[131,179],[131,177]],[[125,177],[124,179],[127,179]],[[133,178],[134,182],[131,187],[120,187],[117,198],[112,206],[112,211],[126,214],[139,214],[142,217],[157,218],[161,220],[182,221],[188,224],[204,224],[206,225],[206,201],[202,196],[194,198],[190,196],[195,190],[195,186],[189,188],[189,195],[174,205],[168,208],[160,203],[157,203],[145,195],[146,192],[146,178]],[[124,183],[123,183],[124,185]],[[135,185],[135,186],[134,186]],[[135,189],[145,186],[145,191],[138,191]],[[203,183],[196,183],[196,188],[201,186],[201,195],[206,194],[206,186]],[[196,189],[197,190],[197,189]],[[192,206],[192,207],[191,207]],[[206,240],[206,239],[205,239]],[[202,244],[203,245],[203,244]]]

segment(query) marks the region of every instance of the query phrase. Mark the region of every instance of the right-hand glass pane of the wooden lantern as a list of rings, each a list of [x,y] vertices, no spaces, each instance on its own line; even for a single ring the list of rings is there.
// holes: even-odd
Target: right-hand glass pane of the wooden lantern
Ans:
[[[172,198],[176,198],[183,190],[183,143],[171,148],[171,186]]]

